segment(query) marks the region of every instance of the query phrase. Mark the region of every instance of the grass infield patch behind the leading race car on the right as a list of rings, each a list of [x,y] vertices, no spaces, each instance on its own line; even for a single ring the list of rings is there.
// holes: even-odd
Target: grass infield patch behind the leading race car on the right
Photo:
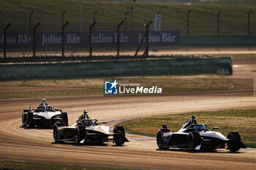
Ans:
[[[161,125],[167,124],[170,131],[178,131],[181,128],[181,124],[189,120],[191,115],[197,117],[197,123],[208,124],[208,129],[210,130],[214,126],[219,126],[217,131],[224,136],[230,131],[238,131],[246,147],[256,147],[256,109],[191,112],[181,115],[148,117],[129,120],[119,125],[123,125],[130,134],[155,137]]]

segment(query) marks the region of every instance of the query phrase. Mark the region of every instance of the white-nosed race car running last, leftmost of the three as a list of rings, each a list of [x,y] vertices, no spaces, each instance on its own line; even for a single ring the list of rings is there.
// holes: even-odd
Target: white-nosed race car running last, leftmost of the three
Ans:
[[[45,103],[45,99],[42,99],[42,103],[39,104],[37,109],[23,109],[22,112],[22,124],[27,128],[34,127],[53,127],[55,123],[64,123],[68,125],[67,112],[62,112],[61,109],[50,107]]]

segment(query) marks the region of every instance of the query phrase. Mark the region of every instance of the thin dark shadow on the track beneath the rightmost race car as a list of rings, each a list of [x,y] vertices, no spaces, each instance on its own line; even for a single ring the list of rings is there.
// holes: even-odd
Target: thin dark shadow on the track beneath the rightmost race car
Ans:
[[[194,153],[233,153],[233,154],[240,154],[240,153],[244,153],[244,151],[237,151],[237,152],[230,152],[229,150],[195,150],[195,151],[189,151],[187,149],[176,149],[176,148],[171,148],[171,149],[165,149],[165,150],[160,150],[160,149],[156,149],[159,151],[164,151],[164,152],[188,152],[191,154]]]

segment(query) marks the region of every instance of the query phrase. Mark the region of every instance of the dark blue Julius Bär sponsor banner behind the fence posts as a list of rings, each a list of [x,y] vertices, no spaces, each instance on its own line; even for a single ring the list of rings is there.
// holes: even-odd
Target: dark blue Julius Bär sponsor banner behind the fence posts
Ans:
[[[135,47],[140,44],[144,33],[142,31],[120,31],[119,42],[123,47]],[[116,31],[94,31],[91,35],[94,47],[113,47],[117,42]],[[180,44],[180,31],[149,31],[150,46],[170,46]],[[89,47],[89,32],[67,31],[64,33],[65,47]],[[144,39],[146,41],[146,39]],[[38,47],[61,47],[60,31],[38,31],[36,36]],[[0,34],[0,47],[3,47],[4,35]],[[7,48],[29,47],[33,44],[31,32],[7,32]]]

